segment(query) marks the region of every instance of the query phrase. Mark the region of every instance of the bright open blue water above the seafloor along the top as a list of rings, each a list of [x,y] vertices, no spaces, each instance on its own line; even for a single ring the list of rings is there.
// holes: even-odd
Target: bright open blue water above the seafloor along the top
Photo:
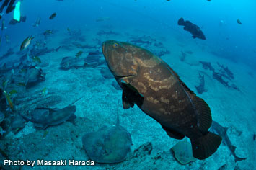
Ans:
[[[133,27],[146,30],[159,30],[164,34],[187,34],[177,26],[177,19],[198,24],[207,37],[207,45],[221,57],[239,60],[252,66],[255,64],[255,1],[24,1],[21,14],[27,22],[9,26],[6,34],[14,42],[21,42],[30,34],[40,30],[61,29],[61,27],[98,27],[95,19],[110,17],[115,27]],[[43,12],[41,12],[43,9]],[[57,13],[56,19],[48,17]],[[4,16],[6,22],[12,14]],[[33,29],[30,24],[37,17],[42,18],[40,28]],[[79,19],[78,19],[79,18]],[[237,24],[240,19],[242,25]],[[224,22],[221,24],[221,20]],[[229,40],[226,40],[226,37]],[[4,47],[1,47],[1,50]]]

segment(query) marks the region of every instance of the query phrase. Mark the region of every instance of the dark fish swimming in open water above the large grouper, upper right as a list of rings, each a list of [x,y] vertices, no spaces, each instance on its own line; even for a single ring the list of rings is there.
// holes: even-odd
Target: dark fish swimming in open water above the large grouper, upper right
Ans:
[[[190,32],[193,38],[199,38],[202,40],[206,40],[205,35],[203,35],[202,30],[196,24],[193,24],[190,21],[185,21],[183,18],[180,18],[178,21],[178,25],[184,26],[184,30]]]

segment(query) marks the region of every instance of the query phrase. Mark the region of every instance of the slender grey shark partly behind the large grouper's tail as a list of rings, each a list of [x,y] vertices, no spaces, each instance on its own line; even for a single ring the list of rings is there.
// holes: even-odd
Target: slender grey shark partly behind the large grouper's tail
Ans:
[[[239,158],[236,155],[236,153],[234,153],[237,147],[231,144],[231,141],[229,140],[229,136],[226,133],[227,130],[228,130],[228,127],[223,127],[219,125],[218,122],[213,121],[213,123],[211,124],[211,131],[219,134],[223,138],[224,143],[226,144],[226,146],[228,146],[229,151],[231,151],[231,154],[234,156],[234,161],[237,162],[237,161],[242,161],[246,159],[246,158]]]

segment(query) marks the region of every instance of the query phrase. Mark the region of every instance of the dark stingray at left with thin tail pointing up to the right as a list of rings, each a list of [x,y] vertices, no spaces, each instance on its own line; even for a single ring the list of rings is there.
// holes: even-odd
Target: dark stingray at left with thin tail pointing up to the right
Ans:
[[[79,99],[76,99],[75,102],[79,101]],[[33,122],[35,127],[45,129],[48,126],[59,125],[67,120],[74,120],[76,118],[76,115],[74,115],[76,106],[73,105],[75,102],[63,109],[36,108],[32,111],[31,118],[25,115],[22,115],[22,117],[27,121]]]

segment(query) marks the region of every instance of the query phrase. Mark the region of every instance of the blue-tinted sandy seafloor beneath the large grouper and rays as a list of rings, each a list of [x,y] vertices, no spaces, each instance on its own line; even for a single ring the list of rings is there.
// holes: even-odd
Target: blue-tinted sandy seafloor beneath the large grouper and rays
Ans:
[[[104,40],[125,41],[132,37],[150,35],[157,42],[162,42],[164,47],[171,53],[163,55],[166,61],[185,81],[191,90],[195,91],[195,86],[199,84],[198,71],[205,73],[207,92],[199,95],[211,107],[213,120],[223,126],[229,127],[228,135],[231,143],[237,146],[237,156],[247,157],[245,161],[234,162],[229,149],[221,144],[218,151],[206,160],[193,161],[187,165],[179,164],[170,152],[178,140],[169,138],[161,125],[151,117],[147,116],[138,107],[123,110],[121,104],[120,125],[131,133],[133,146],[131,153],[125,161],[119,164],[97,164],[95,166],[35,166],[33,169],[254,169],[256,160],[256,142],[252,140],[252,135],[256,132],[256,107],[255,107],[255,76],[248,73],[253,72],[242,63],[234,63],[225,58],[220,58],[209,53],[211,50],[206,46],[198,45],[195,42],[200,40],[178,40],[172,35],[161,35],[158,32],[146,32],[133,30],[119,30],[121,35],[97,36],[96,30],[84,30],[85,42],[81,44],[97,45],[93,41],[95,37]],[[119,32],[115,30],[115,32]],[[48,48],[57,48],[63,45],[63,40],[69,37],[66,30],[58,31],[50,35],[47,40]],[[187,38],[187,37],[186,37]],[[64,41],[65,42],[65,41]],[[65,45],[71,44],[72,40],[67,40]],[[100,45],[98,49],[101,51]],[[151,49],[154,46],[150,47]],[[71,50],[61,48],[58,52],[48,53],[40,56],[43,63],[49,63],[43,67],[48,72],[46,80],[30,89],[24,89],[17,95],[19,102],[17,109],[22,107],[35,108],[39,103],[47,107],[66,107],[74,100],[82,97],[76,102],[76,120],[64,122],[61,125],[48,127],[48,134],[43,138],[45,130],[35,129],[32,122],[28,122],[25,128],[16,135],[9,133],[1,143],[6,147],[6,153],[13,160],[61,160],[74,159],[76,161],[87,161],[89,158],[85,153],[81,138],[85,133],[98,130],[104,125],[115,125],[116,108],[118,99],[121,99],[122,91],[112,86],[114,79],[105,79],[100,68],[78,68],[63,71],[59,69],[61,59],[65,56],[74,56],[81,50],[73,47]],[[86,57],[93,49],[82,49],[84,53],[81,57]],[[96,49],[95,49],[96,50]],[[185,61],[180,61],[180,51],[191,50],[193,54],[188,54]],[[103,57],[103,56],[102,56]],[[228,66],[234,73],[233,83],[240,91],[228,89],[212,78],[211,71],[202,68],[198,61],[208,61],[214,68],[218,68],[216,62]],[[40,91],[48,88],[48,95],[43,97]],[[196,92],[196,91],[195,91]],[[50,99],[50,102],[47,102]],[[14,99],[15,104],[15,99]],[[242,132],[242,134],[241,134]],[[141,149],[134,151],[146,143],[152,144],[152,150]],[[29,166],[12,166],[12,169],[31,169]]]

